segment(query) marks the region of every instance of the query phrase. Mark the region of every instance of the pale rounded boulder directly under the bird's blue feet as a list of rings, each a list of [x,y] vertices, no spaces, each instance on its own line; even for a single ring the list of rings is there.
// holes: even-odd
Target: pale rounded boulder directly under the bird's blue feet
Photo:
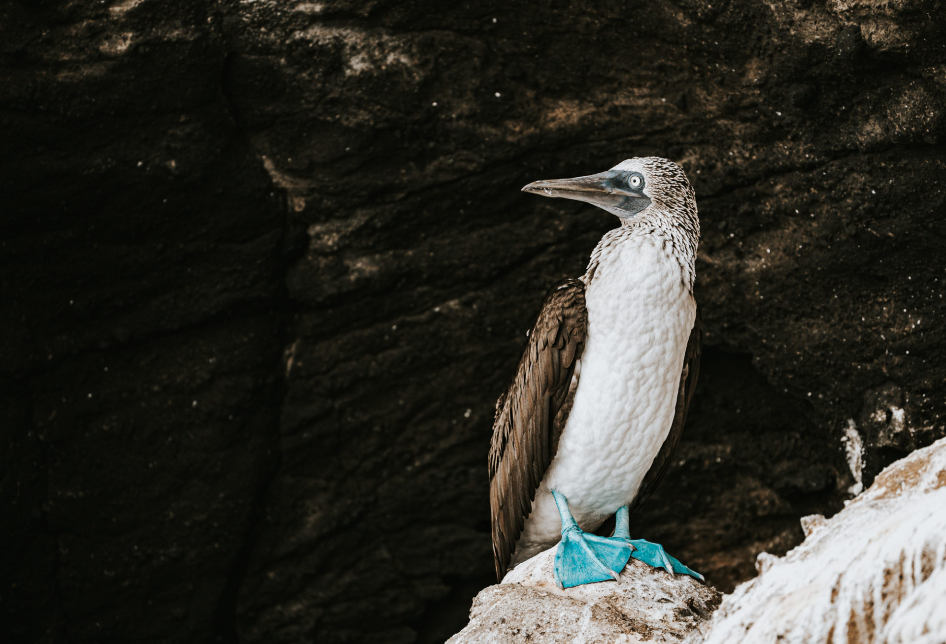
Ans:
[[[715,588],[635,559],[617,582],[563,590],[552,576],[554,557],[555,548],[540,552],[483,589],[469,624],[447,644],[674,642],[719,605]]]

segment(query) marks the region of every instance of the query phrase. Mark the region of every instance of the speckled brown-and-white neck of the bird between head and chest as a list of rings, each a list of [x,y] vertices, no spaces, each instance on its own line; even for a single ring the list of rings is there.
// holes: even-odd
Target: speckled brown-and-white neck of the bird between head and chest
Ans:
[[[678,226],[660,224],[661,222],[653,218],[622,219],[622,225],[605,233],[591,252],[582,281],[589,285],[595,279],[598,266],[606,253],[619,251],[621,246],[646,240],[657,248],[664,249],[674,258],[680,267],[680,282],[692,292],[696,277],[696,245],[699,232],[697,230],[694,235]]]

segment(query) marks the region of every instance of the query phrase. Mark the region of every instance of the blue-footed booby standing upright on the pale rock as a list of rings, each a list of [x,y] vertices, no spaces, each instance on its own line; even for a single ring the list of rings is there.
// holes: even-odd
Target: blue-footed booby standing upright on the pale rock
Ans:
[[[699,375],[692,185],[672,161],[634,157],[522,190],[586,201],[620,225],[584,275],[550,289],[497,401],[488,459],[497,577],[557,542],[562,588],[618,579],[631,557],[703,580],[659,544],[631,539],[629,519],[674,459]],[[594,534],[611,515],[612,535]]]

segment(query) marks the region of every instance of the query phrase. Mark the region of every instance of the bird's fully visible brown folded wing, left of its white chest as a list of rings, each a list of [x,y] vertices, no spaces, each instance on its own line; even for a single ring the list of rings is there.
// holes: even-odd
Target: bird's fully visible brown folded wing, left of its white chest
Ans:
[[[549,291],[516,377],[496,401],[489,447],[493,555],[499,579],[512,559],[535,489],[542,482],[574,397],[572,375],[585,348],[585,284],[566,280]]]

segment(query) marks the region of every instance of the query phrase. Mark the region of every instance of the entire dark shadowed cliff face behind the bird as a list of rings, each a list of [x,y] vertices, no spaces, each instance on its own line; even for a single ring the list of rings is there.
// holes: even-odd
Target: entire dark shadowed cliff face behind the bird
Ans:
[[[944,435],[937,2],[0,11],[19,639],[457,631],[493,402],[616,223],[518,188],[630,156],[696,190],[709,344],[639,536],[729,589]]]

